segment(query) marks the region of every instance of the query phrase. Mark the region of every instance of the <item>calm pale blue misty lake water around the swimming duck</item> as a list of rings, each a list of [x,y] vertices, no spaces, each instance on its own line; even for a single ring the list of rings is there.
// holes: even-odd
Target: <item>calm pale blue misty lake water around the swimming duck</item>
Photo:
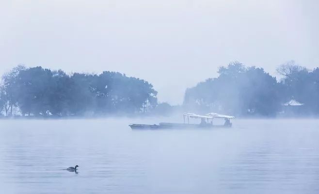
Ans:
[[[319,193],[319,120],[128,127],[160,121],[0,120],[0,193]],[[78,174],[63,170],[76,164]]]

